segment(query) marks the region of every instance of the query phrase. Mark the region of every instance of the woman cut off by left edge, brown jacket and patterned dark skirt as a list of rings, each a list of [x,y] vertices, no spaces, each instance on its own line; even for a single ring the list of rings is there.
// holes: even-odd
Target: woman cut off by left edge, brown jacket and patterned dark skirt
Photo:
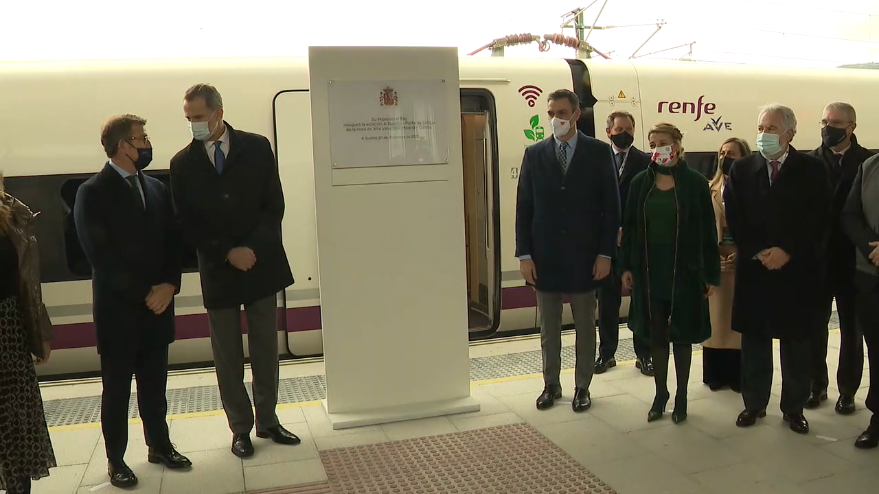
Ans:
[[[51,352],[42,302],[36,214],[6,193],[0,175],[0,490],[31,491],[55,463],[34,363]]]

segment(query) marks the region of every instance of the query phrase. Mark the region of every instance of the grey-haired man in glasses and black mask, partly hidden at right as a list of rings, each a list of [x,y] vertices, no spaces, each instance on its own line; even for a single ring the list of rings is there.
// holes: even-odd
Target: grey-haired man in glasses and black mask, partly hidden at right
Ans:
[[[827,286],[824,300],[827,323],[830,323],[833,299],[839,315],[839,368],[836,373],[839,400],[836,411],[843,415],[854,413],[854,394],[861,387],[864,373],[864,337],[854,320],[854,244],[842,231],[842,207],[852,189],[854,177],[861,163],[873,152],[861,147],[854,135],[857,114],[848,103],[831,103],[825,107],[821,119],[821,147],[810,154],[825,163],[831,178],[833,209],[825,256]],[[812,339],[811,392],[806,408],[817,408],[827,399],[828,328],[825,325]]]

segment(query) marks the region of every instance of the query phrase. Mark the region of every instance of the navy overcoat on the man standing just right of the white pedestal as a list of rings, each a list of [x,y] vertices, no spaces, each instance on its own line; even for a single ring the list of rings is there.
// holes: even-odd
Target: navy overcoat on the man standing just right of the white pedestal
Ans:
[[[592,268],[599,255],[616,256],[620,222],[609,144],[580,132],[567,174],[556,157],[555,137],[525,150],[516,200],[516,256],[534,259],[538,290],[581,293],[607,282],[593,280]]]

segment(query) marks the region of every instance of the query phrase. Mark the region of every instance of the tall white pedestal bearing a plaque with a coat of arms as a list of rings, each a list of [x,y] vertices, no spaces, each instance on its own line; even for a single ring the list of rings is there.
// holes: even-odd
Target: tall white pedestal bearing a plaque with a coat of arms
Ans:
[[[479,410],[457,50],[311,47],[309,78],[333,428]]]

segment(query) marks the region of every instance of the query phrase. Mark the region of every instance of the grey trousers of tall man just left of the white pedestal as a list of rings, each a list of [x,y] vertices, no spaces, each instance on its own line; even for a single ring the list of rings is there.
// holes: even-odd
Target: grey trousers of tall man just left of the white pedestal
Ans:
[[[253,374],[253,405],[257,410],[257,431],[279,425],[278,403],[278,302],[272,295],[244,304],[247,343]],[[244,387],[244,347],[241,339],[241,312],[235,309],[207,311],[214,350],[217,385],[229,429],[235,434],[251,432],[254,425],[251,397]]]

